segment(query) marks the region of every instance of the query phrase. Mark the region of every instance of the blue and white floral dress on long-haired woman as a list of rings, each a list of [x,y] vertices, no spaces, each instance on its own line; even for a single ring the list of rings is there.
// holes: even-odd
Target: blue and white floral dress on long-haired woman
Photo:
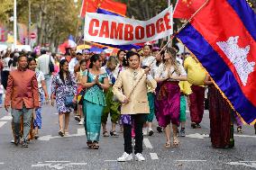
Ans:
[[[51,93],[56,95],[56,105],[58,112],[71,112],[72,109],[65,105],[65,98],[70,94],[76,95],[77,83],[73,74],[66,77],[65,84],[59,77],[59,74],[52,79]]]

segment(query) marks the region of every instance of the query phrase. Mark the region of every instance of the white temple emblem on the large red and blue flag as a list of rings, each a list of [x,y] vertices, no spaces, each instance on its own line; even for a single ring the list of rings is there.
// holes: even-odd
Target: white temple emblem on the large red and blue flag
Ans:
[[[220,49],[224,51],[224,54],[233,63],[238,76],[242,81],[242,85],[247,84],[248,76],[253,72],[255,62],[249,62],[247,60],[247,55],[250,51],[250,46],[245,48],[240,48],[238,46],[239,36],[230,37],[227,41],[217,42]]]

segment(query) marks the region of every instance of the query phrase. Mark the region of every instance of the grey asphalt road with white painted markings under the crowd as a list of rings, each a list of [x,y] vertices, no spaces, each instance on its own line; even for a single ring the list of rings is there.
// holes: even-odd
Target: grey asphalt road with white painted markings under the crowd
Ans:
[[[41,138],[33,140],[29,148],[14,146],[10,141],[11,116],[0,109],[0,170],[44,170],[44,169],[256,169],[256,135],[254,129],[243,127],[243,133],[235,137],[235,148],[211,148],[208,112],[205,112],[202,129],[192,130],[187,113],[187,137],[179,138],[178,148],[165,148],[163,133],[144,137],[144,162],[116,162],[123,154],[123,137],[101,136],[100,149],[87,148],[87,139],[82,125],[70,119],[69,137],[58,136],[58,114],[56,109],[44,105]],[[156,124],[156,122],[154,122]],[[109,130],[108,123],[108,130]],[[117,128],[119,129],[119,128]]]

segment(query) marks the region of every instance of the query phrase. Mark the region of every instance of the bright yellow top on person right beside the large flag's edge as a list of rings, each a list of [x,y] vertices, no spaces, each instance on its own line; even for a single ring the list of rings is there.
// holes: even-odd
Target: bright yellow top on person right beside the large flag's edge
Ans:
[[[187,57],[184,61],[184,68],[187,71],[188,83],[191,85],[205,86],[206,70],[196,59]]]

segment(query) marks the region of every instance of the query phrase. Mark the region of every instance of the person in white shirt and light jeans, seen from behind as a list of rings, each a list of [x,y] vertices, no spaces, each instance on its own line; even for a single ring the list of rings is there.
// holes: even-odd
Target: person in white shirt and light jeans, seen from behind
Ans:
[[[45,77],[45,83],[47,87],[47,93],[50,96],[50,87],[52,74],[50,73],[49,63],[50,61],[54,64],[54,59],[47,54],[47,49],[41,49],[41,56],[37,59],[37,67],[43,73]]]

